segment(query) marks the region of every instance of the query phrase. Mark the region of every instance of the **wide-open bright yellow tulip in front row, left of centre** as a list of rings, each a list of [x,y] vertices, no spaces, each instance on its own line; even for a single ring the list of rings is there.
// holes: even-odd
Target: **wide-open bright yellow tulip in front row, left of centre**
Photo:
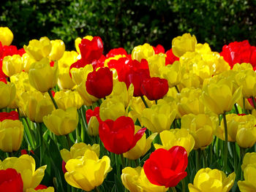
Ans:
[[[66,169],[65,180],[67,183],[84,191],[91,191],[101,185],[108,172],[112,170],[108,156],[99,159],[91,150],[86,150],[83,158],[67,161]]]

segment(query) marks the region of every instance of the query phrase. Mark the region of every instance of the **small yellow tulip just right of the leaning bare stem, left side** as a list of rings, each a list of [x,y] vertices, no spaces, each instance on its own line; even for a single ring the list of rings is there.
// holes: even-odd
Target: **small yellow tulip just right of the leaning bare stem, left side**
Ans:
[[[58,107],[62,110],[67,110],[69,107],[80,109],[83,105],[83,99],[78,91],[58,91],[55,93],[54,99]]]

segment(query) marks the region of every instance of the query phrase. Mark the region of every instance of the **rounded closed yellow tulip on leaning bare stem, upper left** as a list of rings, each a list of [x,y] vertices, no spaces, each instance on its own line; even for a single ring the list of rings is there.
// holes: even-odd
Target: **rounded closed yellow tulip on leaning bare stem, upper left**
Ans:
[[[45,93],[57,84],[59,69],[58,65],[50,66],[48,58],[31,64],[29,69],[29,82],[38,91]]]

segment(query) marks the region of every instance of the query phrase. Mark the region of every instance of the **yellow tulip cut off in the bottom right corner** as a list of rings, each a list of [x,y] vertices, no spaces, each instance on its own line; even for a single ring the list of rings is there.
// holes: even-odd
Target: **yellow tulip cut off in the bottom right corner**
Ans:
[[[241,192],[256,191],[256,164],[249,164],[244,169],[244,180],[238,180],[238,188]]]

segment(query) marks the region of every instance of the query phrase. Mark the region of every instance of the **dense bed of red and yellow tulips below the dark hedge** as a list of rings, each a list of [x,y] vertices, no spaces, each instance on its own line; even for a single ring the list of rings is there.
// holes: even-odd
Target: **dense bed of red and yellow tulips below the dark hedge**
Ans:
[[[181,34],[104,53],[101,37],[0,27],[0,192],[256,191],[256,47]]]

